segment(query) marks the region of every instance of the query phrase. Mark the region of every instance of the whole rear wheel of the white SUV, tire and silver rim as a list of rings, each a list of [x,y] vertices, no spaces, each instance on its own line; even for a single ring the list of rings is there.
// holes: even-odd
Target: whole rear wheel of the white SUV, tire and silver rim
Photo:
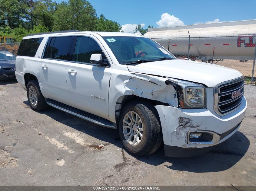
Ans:
[[[28,82],[27,97],[32,110],[42,111],[48,106],[45,102],[44,96],[40,91],[39,84],[35,80],[31,80]]]

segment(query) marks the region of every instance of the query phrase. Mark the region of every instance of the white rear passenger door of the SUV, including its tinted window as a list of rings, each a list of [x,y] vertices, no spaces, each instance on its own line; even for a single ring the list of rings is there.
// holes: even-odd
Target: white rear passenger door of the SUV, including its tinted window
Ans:
[[[74,37],[50,37],[40,67],[45,97],[68,104],[66,69]]]

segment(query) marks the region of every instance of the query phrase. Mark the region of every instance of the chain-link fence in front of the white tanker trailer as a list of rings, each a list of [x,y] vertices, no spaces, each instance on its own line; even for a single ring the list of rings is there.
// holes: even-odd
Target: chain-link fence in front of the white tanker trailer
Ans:
[[[207,62],[241,72],[246,83],[256,80],[256,34],[221,37],[152,38],[175,57]]]

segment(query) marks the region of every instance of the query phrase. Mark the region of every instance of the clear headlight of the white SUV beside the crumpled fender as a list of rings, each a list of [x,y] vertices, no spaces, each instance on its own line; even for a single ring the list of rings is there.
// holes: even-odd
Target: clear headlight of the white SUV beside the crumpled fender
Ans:
[[[205,88],[201,84],[168,78],[176,87],[181,108],[206,108]]]

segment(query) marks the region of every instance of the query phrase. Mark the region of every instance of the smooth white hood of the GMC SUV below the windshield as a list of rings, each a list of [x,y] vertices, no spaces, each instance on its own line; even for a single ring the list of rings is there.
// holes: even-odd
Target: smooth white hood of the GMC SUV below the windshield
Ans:
[[[128,65],[127,68],[130,72],[177,78],[205,84],[211,88],[242,76],[237,70],[224,66],[181,59],[145,62]]]

